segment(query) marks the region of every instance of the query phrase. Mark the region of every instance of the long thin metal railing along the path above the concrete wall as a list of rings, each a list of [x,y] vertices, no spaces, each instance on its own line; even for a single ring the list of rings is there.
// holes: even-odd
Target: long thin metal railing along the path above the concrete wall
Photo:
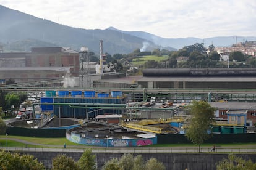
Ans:
[[[198,153],[198,147],[88,147],[92,153]],[[87,148],[79,147],[0,147],[0,149],[15,152],[84,152]],[[254,148],[215,148],[213,152],[211,148],[203,147],[200,149],[202,153],[254,153]]]

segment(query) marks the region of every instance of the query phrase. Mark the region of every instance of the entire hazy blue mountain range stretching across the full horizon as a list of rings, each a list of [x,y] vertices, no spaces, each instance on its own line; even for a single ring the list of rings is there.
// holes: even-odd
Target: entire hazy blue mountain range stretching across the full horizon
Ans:
[[[169,50],[205,42],[208,46],[231,46],[236,41],[255,40],[255,37],[161,38],[143,31],[121,31],[110,27],[106,30],[85,30],[60,25],[49,20],[0,6],[0,44],[4,52],[30,51],[31,47],[62,46],[79,51],[87,46],[99,54],[99,41],[103,40],[103,52],[128,54],[135,49],[152,51],[155,48]],[[174,49],[175,48],[175,49]]]

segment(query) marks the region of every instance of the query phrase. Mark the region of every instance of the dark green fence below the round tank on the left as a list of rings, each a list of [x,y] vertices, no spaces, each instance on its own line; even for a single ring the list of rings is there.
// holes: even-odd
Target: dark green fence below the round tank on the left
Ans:
[[[27,137],[66,137],[66,129],[28,129],[22,127],[7,127],[6,133]]]

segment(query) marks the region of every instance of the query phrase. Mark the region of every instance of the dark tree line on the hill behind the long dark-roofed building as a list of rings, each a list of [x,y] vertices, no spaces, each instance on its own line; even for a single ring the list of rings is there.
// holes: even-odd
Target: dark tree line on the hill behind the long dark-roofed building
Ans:
[[[160,62],[148,60],[140,68],[228,68],[227,62],[223,62],[220,54],[215,51],[215,46],[210,45],[206,48],[203,43],[185,46],[178,51],[169,51],[168,49],[140,51],[140,49],[135,49],[129,54],[105,54],[106,62],[116,63],[116,68],[118,69],[115,68],[114,71],[117,72],[127,70],[132,67],[130,63],[132,63],[133,59],[146,55],[167,57],[166,60],[161,60]],[[256,59],[251,55],[244,55],[240,51],[230,52],[229,62],[229,67],[231,68],[256,67]]]

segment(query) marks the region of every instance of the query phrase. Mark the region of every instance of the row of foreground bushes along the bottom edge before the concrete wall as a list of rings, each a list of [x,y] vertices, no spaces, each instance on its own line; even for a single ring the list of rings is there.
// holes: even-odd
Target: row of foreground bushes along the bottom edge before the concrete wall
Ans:
[[[6,150],[0,150],[0,169],[46,169],[43,163],[37,160],[33,155],[19,153],[10,153]],[[82,153],[78,161],[72,157],[59,153],[52,159],[53,170],[96,170],[98,167],[95,163],[96,155],[92,154],[92,150],[87,149]],[[121,158],[111,158],[103,165],[103,170],[164,170],[166,167],[156,158],[150,158],[144,161],[142,155],[133,156],[132,154],[124,154]],[[254,170],[256,163],[252,160],[245,160],[239,156],[229,153],[228,158],[216,163],[217,170]]]

